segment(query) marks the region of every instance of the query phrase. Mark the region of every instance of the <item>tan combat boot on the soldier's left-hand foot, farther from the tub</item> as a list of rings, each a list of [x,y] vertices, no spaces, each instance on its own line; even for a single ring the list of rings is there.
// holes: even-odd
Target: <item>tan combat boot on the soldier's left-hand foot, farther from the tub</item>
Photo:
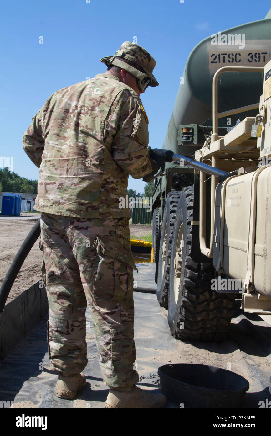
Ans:
[[[73,400],[78,391],[81,391],[86,386],[86,378],[84,374],[74,374],[64,376],[61,373],[57,381],[57,397],[65,400]]]

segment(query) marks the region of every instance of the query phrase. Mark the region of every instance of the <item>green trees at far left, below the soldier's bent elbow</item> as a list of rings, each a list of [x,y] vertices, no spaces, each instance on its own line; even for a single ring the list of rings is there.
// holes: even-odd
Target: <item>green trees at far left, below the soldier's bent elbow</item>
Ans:
[[[0,168],[0,191],[37,194],[37,186],[37,180],[20,177],[14,171],[11,172],[8,167]]]

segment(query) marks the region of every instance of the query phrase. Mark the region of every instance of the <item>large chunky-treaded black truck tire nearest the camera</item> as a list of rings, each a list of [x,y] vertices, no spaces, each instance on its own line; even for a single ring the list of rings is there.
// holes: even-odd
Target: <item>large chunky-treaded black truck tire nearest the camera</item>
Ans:
[[[182,341],[224,341],[234,315],[236,294],[211,290],[212,263],[191,259],[194,187],[182,190],[171,245],[167,321]]]

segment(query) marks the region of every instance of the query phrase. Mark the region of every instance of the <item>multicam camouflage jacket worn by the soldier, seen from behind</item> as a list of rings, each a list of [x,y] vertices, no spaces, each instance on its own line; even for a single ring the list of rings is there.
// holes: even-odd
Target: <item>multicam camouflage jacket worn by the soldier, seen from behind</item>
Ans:
[[[35,210],[80,218],[129,218],[119,208],[129,174],[151,173],[141,99],[110,74],[54,92],[23,135],[40,168]]]

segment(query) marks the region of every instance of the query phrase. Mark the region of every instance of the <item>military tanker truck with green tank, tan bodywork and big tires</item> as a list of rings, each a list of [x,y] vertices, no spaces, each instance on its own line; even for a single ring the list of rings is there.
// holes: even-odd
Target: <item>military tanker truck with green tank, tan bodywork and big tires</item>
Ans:
[[[271,10],[201,41],[181,77],[152,220],[157,298],[177,339],[224,340],[236,298],[271,314],[270,59]]]

